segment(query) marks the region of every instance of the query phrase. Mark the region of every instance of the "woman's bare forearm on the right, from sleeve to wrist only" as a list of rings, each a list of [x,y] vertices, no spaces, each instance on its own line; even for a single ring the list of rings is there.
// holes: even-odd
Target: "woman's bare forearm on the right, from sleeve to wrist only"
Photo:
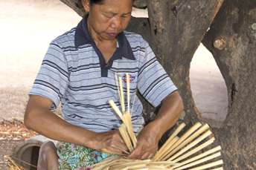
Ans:
[[[150,128],[157,132],[158,139],[176,123],[182,110],[183,103],[178,91],[164,99],[156,119],[149,123]]]

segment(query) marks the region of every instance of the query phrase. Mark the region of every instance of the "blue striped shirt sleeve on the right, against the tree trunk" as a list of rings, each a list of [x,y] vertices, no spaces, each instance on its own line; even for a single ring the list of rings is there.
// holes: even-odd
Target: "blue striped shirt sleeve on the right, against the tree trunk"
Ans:
[[[138,91],[151,105],[157,107],[177,88],[156,59],[150,45],[144,41],[143,47],[144,52],[139,61]]]

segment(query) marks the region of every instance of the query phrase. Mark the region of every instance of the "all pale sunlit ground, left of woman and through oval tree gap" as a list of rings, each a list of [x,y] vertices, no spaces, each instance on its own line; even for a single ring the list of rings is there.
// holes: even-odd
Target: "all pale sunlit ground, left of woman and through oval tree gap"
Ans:
[[[0,122],[22,120],[28,91],[49,43],[75,27],[80,16],[58,0],[8,0],[0,1],[0,7]],[[213,125],[225,119],[225,82],[202,45],[191,62],[191,89],[205,119],[214,120]],[[0,136],[0,169],[3,155],[22,140]]]

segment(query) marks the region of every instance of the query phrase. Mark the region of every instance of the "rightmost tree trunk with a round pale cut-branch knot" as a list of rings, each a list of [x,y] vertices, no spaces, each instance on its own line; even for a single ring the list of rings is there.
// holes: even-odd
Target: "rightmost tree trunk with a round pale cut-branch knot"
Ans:
[[[214,129],[226,169],[256,169],[256,1],[225,0],[203,39],[228,88],[228,115]]]

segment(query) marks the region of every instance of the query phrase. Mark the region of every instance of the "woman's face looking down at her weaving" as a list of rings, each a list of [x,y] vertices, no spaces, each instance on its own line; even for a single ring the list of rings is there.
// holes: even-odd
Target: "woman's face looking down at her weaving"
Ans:
[[[100,39],[115,39],[131,19],[132,0],[104,0],[103,4],[93,5],[88,0],[84,7],[89,11],[89,27]]]

